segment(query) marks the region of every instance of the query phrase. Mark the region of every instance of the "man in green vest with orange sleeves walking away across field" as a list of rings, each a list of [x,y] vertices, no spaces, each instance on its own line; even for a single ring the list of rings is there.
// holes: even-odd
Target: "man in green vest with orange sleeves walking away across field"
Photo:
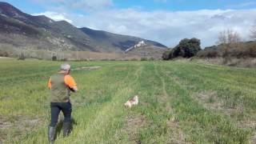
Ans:
[[[71,129],[71,112],[70,91],[78,91],[74,78],[70,76],[70,65],[62,64],[61,70],[50,77],[48,87],[51,91],[50,98],[50,126],[48,128],[48,139],[54,143],[56,134],[56,125],[60,110],[64,114],[63,136],[67,137]]]

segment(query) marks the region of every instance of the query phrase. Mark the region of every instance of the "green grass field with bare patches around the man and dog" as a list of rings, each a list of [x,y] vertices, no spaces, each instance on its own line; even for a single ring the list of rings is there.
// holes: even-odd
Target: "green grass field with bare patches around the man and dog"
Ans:
[[[0,143],[47,143],[46,83],[60,64],[0,60]],[[79,89],[71,96],[74,129],[68,138],[60,131],[56,143],[256,142],[255,69],[185,61],[70,64]],[[138,106],[126,109],[135,94]]]

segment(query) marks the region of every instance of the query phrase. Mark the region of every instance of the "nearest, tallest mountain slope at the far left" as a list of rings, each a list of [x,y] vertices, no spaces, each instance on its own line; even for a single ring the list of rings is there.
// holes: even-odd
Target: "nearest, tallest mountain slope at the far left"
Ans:
[[[25,14],[0,2],[0,42],[47,50],[91,50],[90,37],[65,21]]]

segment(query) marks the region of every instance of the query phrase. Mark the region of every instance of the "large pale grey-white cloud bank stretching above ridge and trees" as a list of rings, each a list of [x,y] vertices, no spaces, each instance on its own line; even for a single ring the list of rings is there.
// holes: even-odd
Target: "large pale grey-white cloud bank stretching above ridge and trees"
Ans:
[[[248,40],[256,10],[140,11],[104,10],[86,15],[70,14],[78,27],[133,35],[175,46],[182,38],[200,38],[202,46],[214,45],[218,33],[228,28]]]

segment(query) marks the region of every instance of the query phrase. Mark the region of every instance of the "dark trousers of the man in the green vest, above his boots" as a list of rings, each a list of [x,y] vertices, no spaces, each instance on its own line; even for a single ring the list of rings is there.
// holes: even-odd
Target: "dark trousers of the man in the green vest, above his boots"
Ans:
[[[50,102],[50,126],[54,127],[58,122],[58,114],[62,110],[64,122],[71,122],[72,106],[70,102]]]

